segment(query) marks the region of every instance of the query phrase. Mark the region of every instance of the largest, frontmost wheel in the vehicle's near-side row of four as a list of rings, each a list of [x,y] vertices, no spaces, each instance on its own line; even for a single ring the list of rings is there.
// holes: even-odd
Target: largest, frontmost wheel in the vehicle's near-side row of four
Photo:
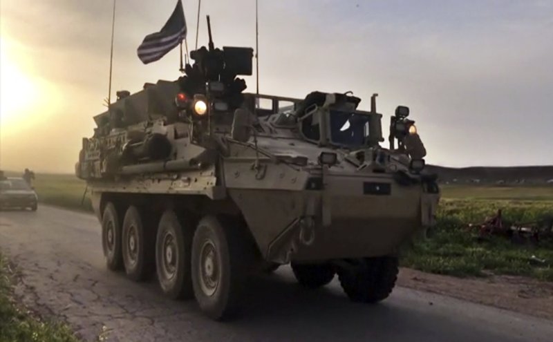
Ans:
[[[236,314],[243,294],[251,259],[242,228],[234,220],[207,216],[192,240],[194,296],[201,310],[217,321]]]

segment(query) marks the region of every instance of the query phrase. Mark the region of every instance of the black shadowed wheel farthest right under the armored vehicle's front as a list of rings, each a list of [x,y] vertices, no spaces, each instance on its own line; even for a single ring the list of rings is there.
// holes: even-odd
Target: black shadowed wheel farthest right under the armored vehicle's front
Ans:
[[[394,256],[365,258],[355,270],[339,271],[341,287],[355,302],[377,303],[387,298],[397,280],[398,260]]]

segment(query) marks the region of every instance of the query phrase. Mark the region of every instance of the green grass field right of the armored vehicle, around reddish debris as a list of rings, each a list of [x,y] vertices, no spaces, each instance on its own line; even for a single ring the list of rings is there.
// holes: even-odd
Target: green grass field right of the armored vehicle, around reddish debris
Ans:
[[[426,240],[418,240],[404,251],[402,265],[424,272],[451,276],[505,274],[553,281],[553,241],[538,245],[513,243],[503,236],[478,238],[478,225],[503,209],[503,222],[533,222],[553,216],[550,200],[452,200],[444,199],[438,209],[436,227]]]

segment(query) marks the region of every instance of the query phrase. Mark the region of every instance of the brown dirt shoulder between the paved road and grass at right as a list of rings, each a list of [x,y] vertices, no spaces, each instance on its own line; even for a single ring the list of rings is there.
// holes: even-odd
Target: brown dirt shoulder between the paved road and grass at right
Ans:
[[[553,321],[553,283],[521,276],[455,278],[400,269],[397,285]]]

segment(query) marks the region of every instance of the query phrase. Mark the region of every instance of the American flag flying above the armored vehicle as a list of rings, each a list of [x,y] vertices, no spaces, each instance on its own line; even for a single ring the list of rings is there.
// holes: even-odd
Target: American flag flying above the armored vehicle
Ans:
[[[144,64],[157,61],[178,46],[186,38],[186,33],[185,12],[181,0],[178,0],[173,14],[160,32],[144,37],[142,44],[138,46],[138,58]]]

